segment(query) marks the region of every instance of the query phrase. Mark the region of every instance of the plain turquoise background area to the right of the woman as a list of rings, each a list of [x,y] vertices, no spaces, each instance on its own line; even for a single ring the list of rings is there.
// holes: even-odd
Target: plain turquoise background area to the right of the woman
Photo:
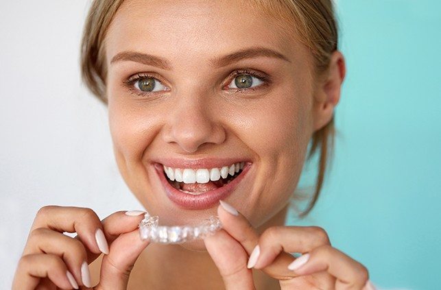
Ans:
[[[348,73],[335,158],[312,213],[288,223],[324,228],[379,288],[441,289],[441,2],[337,6]]]

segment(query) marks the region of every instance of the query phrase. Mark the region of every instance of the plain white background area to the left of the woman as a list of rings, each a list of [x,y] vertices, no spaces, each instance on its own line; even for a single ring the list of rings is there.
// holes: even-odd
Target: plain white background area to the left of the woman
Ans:
[[[89,1],[2,1],[0,289],[10,289],[36,211],[141,209],[119,176],[107,109],[80,80]]]

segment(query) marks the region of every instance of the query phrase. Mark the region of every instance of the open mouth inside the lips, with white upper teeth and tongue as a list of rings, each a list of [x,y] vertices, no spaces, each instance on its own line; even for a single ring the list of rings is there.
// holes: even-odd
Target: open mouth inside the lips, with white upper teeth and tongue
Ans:
[[[180,169],[163,165],[167,182],[182,193],[200,195],[219,189],[239,176],[245,162],[211,169]]]

